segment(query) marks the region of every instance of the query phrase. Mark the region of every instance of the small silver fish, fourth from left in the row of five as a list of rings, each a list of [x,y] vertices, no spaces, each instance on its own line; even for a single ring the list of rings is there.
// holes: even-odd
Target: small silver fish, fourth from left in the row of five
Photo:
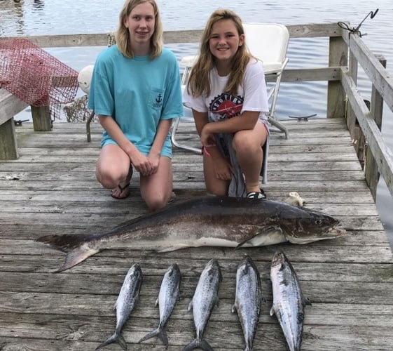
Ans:
[[[242,325],[246,343],[244,351],[253,350],[252,344],[261,313],[262,300],[264,298],[258,268],[251,257],[246,256],[237,266],[235,304],[232,307],[232,312],[237,311]]]

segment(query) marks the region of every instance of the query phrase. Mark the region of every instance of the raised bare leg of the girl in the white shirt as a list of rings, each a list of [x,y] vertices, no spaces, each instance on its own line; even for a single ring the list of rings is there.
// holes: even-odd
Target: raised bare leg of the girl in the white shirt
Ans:
[[[233,149],[246,179],[248,192],[259,192],[259,173],[261,173],[263,151],[268,131],[266,126],[257,123],[253,130],[238,131],[233,136]]]

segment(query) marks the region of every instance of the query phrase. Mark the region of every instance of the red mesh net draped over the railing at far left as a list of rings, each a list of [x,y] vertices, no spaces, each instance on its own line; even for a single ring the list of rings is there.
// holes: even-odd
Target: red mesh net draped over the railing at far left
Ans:
[[[29,105],[49,106],[52,119],[74,100],[77,78],[78,72],[31,41],[0,38],[0,87]]]

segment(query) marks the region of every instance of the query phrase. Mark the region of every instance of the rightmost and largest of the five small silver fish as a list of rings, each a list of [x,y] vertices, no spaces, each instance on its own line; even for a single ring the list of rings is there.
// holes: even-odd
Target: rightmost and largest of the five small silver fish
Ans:
[[[277,251],[273,256],[270,279],[273,288],[270,316],[273,313],[277,316],[289,350],[299,351],[303,337],[304,307],[311,303],[303,297],[294,267],[282,251]]]

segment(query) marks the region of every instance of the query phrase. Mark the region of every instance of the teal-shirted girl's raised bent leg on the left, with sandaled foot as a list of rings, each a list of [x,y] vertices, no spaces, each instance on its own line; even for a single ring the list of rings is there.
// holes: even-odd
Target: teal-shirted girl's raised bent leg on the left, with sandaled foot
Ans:
[[[109,144],[102,147],[95,174],[103,187],[112,189],[113,197],[122,199],[128,196],[132,166],[130,158],[118,145]]]

